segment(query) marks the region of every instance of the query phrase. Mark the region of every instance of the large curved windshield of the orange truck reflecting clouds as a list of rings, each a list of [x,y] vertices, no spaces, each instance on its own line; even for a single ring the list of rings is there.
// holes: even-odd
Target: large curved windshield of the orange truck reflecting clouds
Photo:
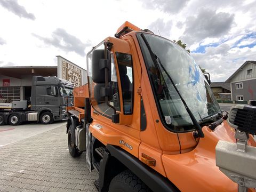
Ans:
[[[220,111],[218,102],[201,69],[189,53],[163,37],[144,35],[155,54],[156,62],[151,57],[141,33],[137,37],[163,123],[174,131],[195,129],[181,97],[198,122],[202,118],[217,114]]]

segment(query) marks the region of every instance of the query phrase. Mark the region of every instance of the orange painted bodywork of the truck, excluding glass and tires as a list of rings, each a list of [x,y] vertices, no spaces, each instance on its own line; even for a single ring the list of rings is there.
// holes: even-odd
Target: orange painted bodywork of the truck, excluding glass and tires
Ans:
[[[126,22],[118,28],[117,33],[127,25],[132,29],[141,30]],[[235,142],[234,129],[226,121],[214,131],[205,126],[205,137],[196,140],[193,132],[174,133],[167,130],[158,114],[136,33],[138,31],[131,31],[119,39],[105,39],[113,43],[111,52],[114,55],[115,52],[132,54],[133,114],[124,115],[121,105],[121,111],[118,111],[120,123],[114,124],[110,118],[93,112],[92,108],[93,123],[90,125],[90,132],[104,145],[119,146],[139,159],[142,153],[155,159],[156,165],[150,167],[167,177],[181,191],[237,191],[237,184],[215,165],[215,146],[219,140]],[[118,69],[116,58],[115,68]],[[120,78],[118,70],[117,78]],[[118,87],[121,87],[120,81]],[[137,90],[141,91],[137,93]],[[119,95],[122,103],[122,94]],[[84,106],[84,99],[88,97],[87,85],[74,89],[74,107],[81,112],[81,118],[84,112],[79,107]],[[146,130],[143,131],[140,130],[141,98],[147,119]],[[249,145],[256,146],[251,136]]]

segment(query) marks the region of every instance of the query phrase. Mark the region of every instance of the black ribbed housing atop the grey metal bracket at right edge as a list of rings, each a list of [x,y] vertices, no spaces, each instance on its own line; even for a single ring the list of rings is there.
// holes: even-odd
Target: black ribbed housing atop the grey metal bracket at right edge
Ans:
[[[229,122],[238,126],[238,130],[256,133],[256,108],[244,106],[244,109],[234,108],[229,114]]]

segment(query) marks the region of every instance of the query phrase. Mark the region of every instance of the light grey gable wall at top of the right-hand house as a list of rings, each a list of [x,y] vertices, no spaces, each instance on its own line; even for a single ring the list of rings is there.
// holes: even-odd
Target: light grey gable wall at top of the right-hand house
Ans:
[[[252,74],[247,75],[247,70],[252,69]],[[239,73],[232,78],[232,82],[242,81],[245,79],[256,78],[256,65],[253,63],[247,63]]]

